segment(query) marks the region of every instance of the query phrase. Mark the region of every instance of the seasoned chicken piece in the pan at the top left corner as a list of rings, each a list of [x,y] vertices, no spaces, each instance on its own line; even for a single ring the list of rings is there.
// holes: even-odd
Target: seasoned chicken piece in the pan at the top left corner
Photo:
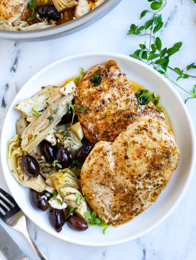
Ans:
[[[0,0],[0,24],[21,18],[28,0]]]

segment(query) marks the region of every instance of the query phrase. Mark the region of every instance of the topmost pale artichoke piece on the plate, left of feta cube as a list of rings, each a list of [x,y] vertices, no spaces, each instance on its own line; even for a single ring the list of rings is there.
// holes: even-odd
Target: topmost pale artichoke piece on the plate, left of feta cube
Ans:
[[[48,106],[48,104],[55,102],[61,97],[60,88],[53,85],[43,87],[41,91],[35,94],[30,99],[25,99],[15,106],[16,109],[23,113],[31,113],[33,107],[37,106],[36,110],[41,111]]]

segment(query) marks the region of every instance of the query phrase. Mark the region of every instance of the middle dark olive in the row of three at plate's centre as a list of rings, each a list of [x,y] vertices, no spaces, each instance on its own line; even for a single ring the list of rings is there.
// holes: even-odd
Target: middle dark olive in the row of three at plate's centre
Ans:
[[[55,159],[58,161],[58,163],[62,166],[62,168],[67,168],[70,165],[71,157],[70,153],[62,144],[59,146],[56,154]]]

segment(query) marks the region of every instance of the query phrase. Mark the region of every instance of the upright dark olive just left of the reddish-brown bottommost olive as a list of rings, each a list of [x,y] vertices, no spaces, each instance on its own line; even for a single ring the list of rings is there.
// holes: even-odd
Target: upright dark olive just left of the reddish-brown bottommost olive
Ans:
[[[65,214],[63,210],[52,208],[49,213],[49,220],[53,228],[55,228],[57,232],[60,232],[65,224]]]

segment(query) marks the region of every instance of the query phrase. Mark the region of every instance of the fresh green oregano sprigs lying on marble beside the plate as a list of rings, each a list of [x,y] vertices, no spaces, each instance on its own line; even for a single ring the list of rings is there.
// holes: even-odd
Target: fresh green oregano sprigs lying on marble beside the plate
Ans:
[[[138,35],[138,36],[144,36],[148,35],[150,36],[149,43],[146,44],[146,41],[144,44],[139,44],[140,49],[137,49],[134,51],[133,54],[130,56],[145,62],[148,65],[151,65],[155,70],[157,70],[160,74],[162,74],[165,78],[167,78],[169,81],[171,81],[173,84],[184,90],[186,93],[190,95],[189,98],[185,99],[184,101],[187,101],[189,99],[196,98],[195,95],[195,87],[191,92],[188,92],[181,86],[179,86],[176,82],[174,82],[170,77],[168,76],[167,69],[172,69],[175,71],[175,73],[178,74],[177,80],[180,78],[187,79],[188,77],[194,77],[192,75],[188,75],[187,72],[190,69],[196,69],[196,66],[194,65],[195,62],[191,63],[186,67],[186,73],[184,73],[183,70],[181,70],[178,67],[175,67],[174,69],[171,68],[169,64],[170,56],[175,54],[180,50],[180,47],[182,46],[182,42],[177,42],[174,44],[173,47],[170,48],[162,48],[162,42],[159,37],[156,36],[156,33],[161,29],[163,26],[162,22],[162,16],[161,14],[158,14],[166,5],[166,0],[147,0],[148,2],[152,2],[150,7],[154,11],[144,10],[141,12],[140,19],[143,18],[147,13],[152,13],[152,17],[150,20],[147,20],[144,25],[140,26],[131,24],[130,30],[128,35]],[[153,43],[152,43],[153,41]]]

